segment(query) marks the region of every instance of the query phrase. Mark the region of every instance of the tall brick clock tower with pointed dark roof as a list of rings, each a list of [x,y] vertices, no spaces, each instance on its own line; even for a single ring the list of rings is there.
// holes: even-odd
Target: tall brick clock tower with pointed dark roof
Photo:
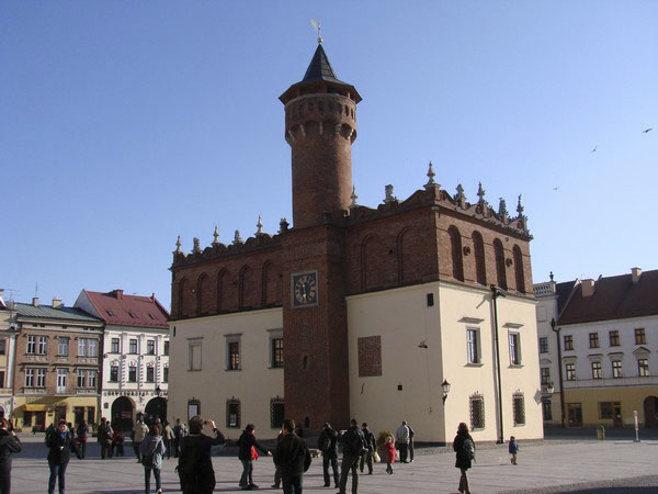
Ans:
[[[333,74],[322,45],[300,82],[281,96],[292,148],[293,223],[282,235],[285,413],[310,430],[350,414],[345,232],[356,138],[353,86]]]

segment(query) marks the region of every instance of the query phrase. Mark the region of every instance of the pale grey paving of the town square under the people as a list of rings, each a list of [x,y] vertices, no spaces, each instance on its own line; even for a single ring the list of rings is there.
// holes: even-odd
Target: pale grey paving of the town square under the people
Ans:
[[[44,493],[47,490],[48,465],[43,436],[21,436],[24,452],[13,461],[12,492]],[[95,442],[90,442],[88,459],[72,459],[67,471],[67,490],[73,493],[140,493],[144,492],[144,469],[126,445],[125,458],[101,460]],[[512,465],[507,446],[488,446],[477,451],[477,463],[469,471],[473,493],[658,493],[658,441],[634,444],[628,440],[545,441],[521,445],[519,464]],[[444,449],[417,454],[410,464],[395,464],[387,475],[385,464],[375,465],[373,475],[360,476],[361,494],[383,493],[451,493],[457,492],[458,470],[454,454]],[[217,486],[215,492],[238,492],[241,467],[237,458],[215,457]],[[174,473],[174,459],[164,460],[162,487],[166,493],[180,492]],[[274,467],[270,458],[256,462],[254,482],[261,491],[270,489]],[[650,476],[648,476],[650,475]],[[321,462],[314,463],[304,475],[305,492],[330,492],[322,485]],[[348,484],[349,487],[350,484]],[[155,485],[151,484],[151,489]],[[152,491],[155,492],[155,490]],[[281,492],[281,491],[279,491]],[[349,491],[348,491],[349,492]]]

